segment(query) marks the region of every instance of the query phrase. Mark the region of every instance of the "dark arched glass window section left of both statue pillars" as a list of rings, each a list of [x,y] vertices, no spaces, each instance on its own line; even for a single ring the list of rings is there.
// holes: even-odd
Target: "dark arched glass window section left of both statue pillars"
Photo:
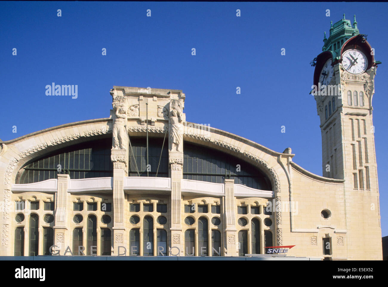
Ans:
[[[113,176],[112,139],[105,138],[57,150],[27,163],[16,183],[33,183],[67,173],[71,179]]]

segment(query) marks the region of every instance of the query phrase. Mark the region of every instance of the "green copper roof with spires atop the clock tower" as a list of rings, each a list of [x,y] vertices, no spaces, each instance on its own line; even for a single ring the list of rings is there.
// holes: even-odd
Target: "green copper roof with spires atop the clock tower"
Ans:
[[[333,60],[339,58],[340,49],[343,43],[346,42],[349,38],[352,38],[355,35],[360,34],[359,29],[357,28],[356,16],[354,15],[353,25],[350,20],[345,19],[345,14],[343,14],[343,19],[334,23],[331,21],[330,24],[330,36],[326,39],[326,32],[324,34],[324,45],[322,51],[331,51],[333,52]]]

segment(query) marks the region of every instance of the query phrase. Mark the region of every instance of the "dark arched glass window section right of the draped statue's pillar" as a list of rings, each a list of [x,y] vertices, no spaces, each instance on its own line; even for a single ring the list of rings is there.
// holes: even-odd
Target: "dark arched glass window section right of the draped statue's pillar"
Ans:
[[[204,182],[224,183],[225,176],[234,183],[261,190],[272,190],[267,176],[251,164],[215,149],[185,142],[183,178]],[[239,164],[239,171],[237,171]]]

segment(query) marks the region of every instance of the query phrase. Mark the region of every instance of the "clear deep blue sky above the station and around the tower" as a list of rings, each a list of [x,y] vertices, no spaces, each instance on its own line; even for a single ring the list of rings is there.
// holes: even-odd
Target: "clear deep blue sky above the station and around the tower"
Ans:
[[[309,62],[322,51],[330,21],[345,13],[353,22],[356,14],[360,33],[383,62],[372,104],[382,235],[388,235],[387,8],[359,2],[0,2],[0,138],[109,117],[114,85],[178,89],[186,94],[187,121],[277,152],[291,147],[295,163],[322,175]],[[78,98],[46,96],[52,82],[78,85]]]

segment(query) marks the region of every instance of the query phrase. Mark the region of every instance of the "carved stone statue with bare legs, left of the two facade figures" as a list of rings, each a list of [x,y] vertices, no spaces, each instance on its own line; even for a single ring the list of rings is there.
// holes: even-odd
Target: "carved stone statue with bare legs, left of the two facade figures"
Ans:
[[[112,149],[127,149],[127,131],[126,124],[128,121],[127,116],[127,103],[123,96],[117,95],[117,91],[112,89],[111,95],[113,97],[113,112],[116,116],[113,121],[113,148]]]

